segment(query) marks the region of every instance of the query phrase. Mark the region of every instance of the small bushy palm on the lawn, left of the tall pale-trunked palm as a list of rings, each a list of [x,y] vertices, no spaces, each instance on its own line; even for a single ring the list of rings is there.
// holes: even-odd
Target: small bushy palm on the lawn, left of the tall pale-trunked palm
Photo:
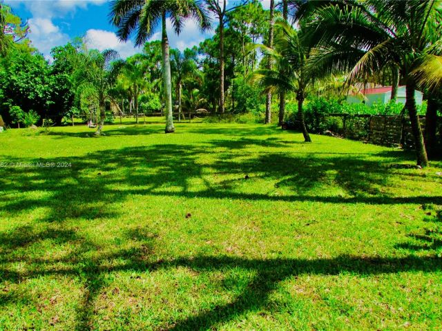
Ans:
[[[115,50],[89,50],[79,54],[79,57],[81,60],[76,63],[74,81],[79,94],[88,94],[98,103],[99,123],[95,134],[99,136],[106,119],[106,101],[111,99],[112,89],[124,62],[117,60],[118,53]]]

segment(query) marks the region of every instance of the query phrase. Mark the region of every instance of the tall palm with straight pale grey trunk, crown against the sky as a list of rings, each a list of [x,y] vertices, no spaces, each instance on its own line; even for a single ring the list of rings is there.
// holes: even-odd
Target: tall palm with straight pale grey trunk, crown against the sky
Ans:
[[[200,30],[210,28],[210,19],[200,0],[115,0],[111,4],[111,21],[117,26],[117,36],[127,41],[135,33],[135,44],[142,46],[152,37],[155,28],[162,25],[163,84],[166,101],[166,133],[175,132],[172,112],[171,62],[166,19],[169,18],[177,34],[185,19],[195,19]]]

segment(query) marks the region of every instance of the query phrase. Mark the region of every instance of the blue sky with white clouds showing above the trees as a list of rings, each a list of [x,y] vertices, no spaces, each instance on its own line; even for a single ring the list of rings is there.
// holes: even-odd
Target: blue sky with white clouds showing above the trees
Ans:
[[[223,1],[223,0],[220,0]],[[226,0],[232,6],[236,0]],[[120,43],[115,28],[108,21],[109,2],[106,0],[5,0],[15,14],[30,26],[29,39],[46,57],[50,49],[66,44],[74,37],[84,37],[90,48],[104,50],[113,48],[122,57],[139,51],[132,41]],[[269,0],[262,0],[268,8]],[[213,19],[216,23],[216,19]],[[187,21],[184,30],[177,36],[169,28],[171,47],[183,50],[198,45],[213,32],[201,34],[193,21]],[[151,40],[160,39],[156,32]]]

